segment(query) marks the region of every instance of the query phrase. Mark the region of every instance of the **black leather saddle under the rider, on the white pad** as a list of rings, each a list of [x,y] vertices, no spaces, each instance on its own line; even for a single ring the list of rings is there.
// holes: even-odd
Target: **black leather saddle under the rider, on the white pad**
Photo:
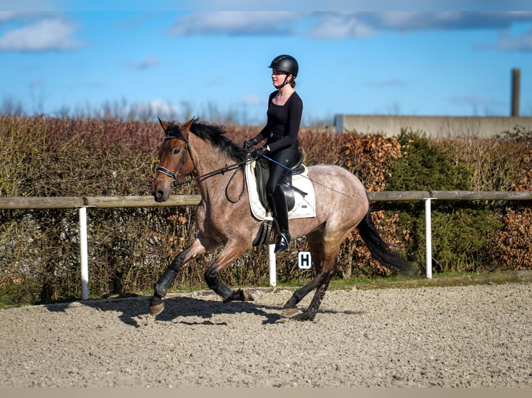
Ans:
[[[269,164],[270,162],[267,159],[260,157],[259,159],[256,160],[255,169],[253,172],[255,174],[258,198],[260,200],[260,203],[262,203],[262,205],[266,209],[268,209],[269,211],[272,211],[272,209],[269,208],[267,195],[266,195],[266,184],[269,178]],[[292,170],[296,173],[303,173],[305,169],[306,168],[303,165],[303,154],[299,152],[296,164],[292,167]],[[292,173],[291,172],[285,174],[285,176],[281,180],[280,188],[281,188],[281,191],[283,192],[283,195],[286,198],[286,206],[288,207],[288,211],[294,209],[294,206],[296,204],[296,201],[294,198],[294,191],[301,193],[301,196],[303,197],[308,195],[308,193],[301,191],[301,189],[294,187],[292,185]]]

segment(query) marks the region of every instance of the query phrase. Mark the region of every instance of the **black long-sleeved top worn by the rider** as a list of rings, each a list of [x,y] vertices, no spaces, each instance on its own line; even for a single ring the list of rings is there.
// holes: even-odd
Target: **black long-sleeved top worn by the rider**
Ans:
[[[257,142],[266,139],[271,152],[289,147],[299,149],[297,133],[303,114],[303,101],[297,92],[293,92],[285,105],[275,105],[273,99],[276,94],[277,91],[269,94],[267,123],[255,139]]]

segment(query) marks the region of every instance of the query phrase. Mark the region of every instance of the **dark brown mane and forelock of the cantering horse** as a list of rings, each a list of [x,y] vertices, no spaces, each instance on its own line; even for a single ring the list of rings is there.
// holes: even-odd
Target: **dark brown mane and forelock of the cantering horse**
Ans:
[[[169,126],[169,135],[171,137],[183,137],[181,123],[171,123]],[[222,150],[237,162],[243,162],[247,157],[247,151],[235,144],[231,139],[226,137],[226,128],[219,124],[209,124],[204,121],[195,119],[190,126],[190,132],[197,137],[209,141],[215,148]]]

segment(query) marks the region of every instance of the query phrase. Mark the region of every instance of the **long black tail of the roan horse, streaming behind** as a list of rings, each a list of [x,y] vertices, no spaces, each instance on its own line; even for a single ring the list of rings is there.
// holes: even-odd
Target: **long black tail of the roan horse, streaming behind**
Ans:
[[[372,220],[372,209],[369,207],[365,218],[357,225],[358,233],[364,243],[372,252],[374,257],[384,266],[390,268],[392,272],[402,275],[417,276],[419,272],[413,263],[407,261],[396,252],[390,249],[388,243],[385,243],[377,231]]]

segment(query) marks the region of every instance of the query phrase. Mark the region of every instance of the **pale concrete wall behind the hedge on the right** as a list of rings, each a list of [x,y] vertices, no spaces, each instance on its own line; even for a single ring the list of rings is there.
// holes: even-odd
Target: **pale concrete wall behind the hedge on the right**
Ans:
[[[493,137],[521,126],[532,131],[532,117],[517,116],[363,116],[337,114],[336,132],[381,133],[395,137],[401,128],[423,130],[427,137]]]

